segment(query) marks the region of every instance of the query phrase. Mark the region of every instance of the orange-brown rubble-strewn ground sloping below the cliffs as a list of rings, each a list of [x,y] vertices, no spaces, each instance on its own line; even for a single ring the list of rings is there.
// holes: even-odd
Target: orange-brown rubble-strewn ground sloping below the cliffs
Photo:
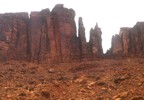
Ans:
[[[144,100],[144,59],[1,62],[0,100]]]

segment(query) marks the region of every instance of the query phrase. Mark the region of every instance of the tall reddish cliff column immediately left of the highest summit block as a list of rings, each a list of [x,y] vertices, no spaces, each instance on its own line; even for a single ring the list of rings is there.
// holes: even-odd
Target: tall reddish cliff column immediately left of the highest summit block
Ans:
[[[45,42],[45,53],[47,54],[46,59],[48,62],[56,62],[57,54],[56,54],[56,41],[54,34],[54,23],[53,16],[49,12],[49,9],[45,9],[41,11],[43,16],[43,32],[46,34]],[[43,54],[45,55],[45,54]]]

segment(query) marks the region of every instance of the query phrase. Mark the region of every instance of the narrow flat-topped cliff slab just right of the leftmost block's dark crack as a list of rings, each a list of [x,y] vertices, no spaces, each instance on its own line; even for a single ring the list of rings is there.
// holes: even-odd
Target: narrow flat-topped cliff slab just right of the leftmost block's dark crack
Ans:
[[[42,32],[42,16],[39,12],[31,12],[30,14],[30,43],[32,51],[32,60],[40,60],[41,41],[45,35]]]

